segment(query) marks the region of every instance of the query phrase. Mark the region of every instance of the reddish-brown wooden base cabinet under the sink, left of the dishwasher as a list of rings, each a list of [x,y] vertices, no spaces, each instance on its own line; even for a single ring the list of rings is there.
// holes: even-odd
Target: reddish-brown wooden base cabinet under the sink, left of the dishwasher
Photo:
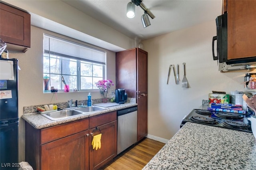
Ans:
[[[25,124],[26,162],[34,170],[96,170],[117,154],[116,111],[35,129]],[[92,148],[94,135],[102,133],[101,148]]]

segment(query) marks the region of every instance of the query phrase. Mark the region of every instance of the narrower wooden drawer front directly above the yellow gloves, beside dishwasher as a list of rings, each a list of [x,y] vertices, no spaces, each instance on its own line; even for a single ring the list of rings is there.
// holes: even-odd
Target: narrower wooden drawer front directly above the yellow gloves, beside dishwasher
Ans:
[[[90,119],[89,128],[94,128],[94,127],[117,120],[116,111],[105,113],[103,115],[90,117],[89,119]]]

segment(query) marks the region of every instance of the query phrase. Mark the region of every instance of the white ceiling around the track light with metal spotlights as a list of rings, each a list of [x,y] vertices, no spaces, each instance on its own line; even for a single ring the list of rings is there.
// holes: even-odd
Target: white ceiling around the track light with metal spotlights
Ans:
[[[143,0],[154,14],[151,26],[143,28],[144,10],[135,7],[135,17],[126,17],[130,0],[63,0],[70,6],[137,40],[147,40],[166,33],[215,20],[221,14],[222,0]]]

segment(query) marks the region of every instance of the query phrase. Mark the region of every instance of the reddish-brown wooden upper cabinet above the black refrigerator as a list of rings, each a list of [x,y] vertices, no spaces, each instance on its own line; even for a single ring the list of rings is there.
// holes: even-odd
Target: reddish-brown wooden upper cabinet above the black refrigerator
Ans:
[[[25,52],[30,47],[30,14],[0,3],[0,38],[7,49]]]

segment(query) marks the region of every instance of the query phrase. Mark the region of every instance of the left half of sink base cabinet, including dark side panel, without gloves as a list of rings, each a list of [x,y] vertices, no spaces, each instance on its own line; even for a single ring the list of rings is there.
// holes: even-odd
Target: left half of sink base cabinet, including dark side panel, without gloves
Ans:
[[[43,129],[25,123],[26,161],[34,170],[89,169],[89,119]]]

